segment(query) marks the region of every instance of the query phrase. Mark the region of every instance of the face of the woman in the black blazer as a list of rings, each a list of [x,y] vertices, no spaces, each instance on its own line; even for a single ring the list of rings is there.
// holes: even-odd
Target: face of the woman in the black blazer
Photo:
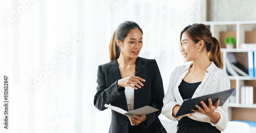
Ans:
[[[117,43],[121,47],[121,54],[123,56],[136,59],[143,46],[142,33],[138,28],[132,29],[122,42],[117,40]]]

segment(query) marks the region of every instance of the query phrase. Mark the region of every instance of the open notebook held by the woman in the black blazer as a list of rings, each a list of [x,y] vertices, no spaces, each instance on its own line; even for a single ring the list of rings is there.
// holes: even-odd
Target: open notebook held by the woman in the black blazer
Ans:
[[[133,115],[143,116],[143,115],[147,115],[147,114],[150,114],[150,113],[153,113],[153,112],[156,112],[156,111],[159,110],[159,109],[156,109],[156,108],[151,107],[151,106],[144,106],[144,107],[132,110],[130,112],[126,112],[125,110],[123,110],[122,108],[117,107],[117,106],[112,106],[112,105],[108,105],[108,104],[105,104],[104,106],[108,107],[108,108],[111,108],[115,112],[118,112],[120,114],[123,114],[125,116],[129,116],[129,117],[133,117]]]

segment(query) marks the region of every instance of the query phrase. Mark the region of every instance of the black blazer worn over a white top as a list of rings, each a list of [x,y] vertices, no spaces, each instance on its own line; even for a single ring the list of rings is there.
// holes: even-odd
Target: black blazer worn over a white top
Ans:
[[[104,110],[104,104],[118,106],[128,110],[124,94],[124,87],[117,89],[117,80],[121,79],[117,60],[98,66],[97,93],[94,96],[94,105]],[[134,90],[134,109],[149,105],[159,109],[158,112],[146,115],[146,121],[136,125],[137,132],[166,132],[158,116],[163,107],[163,82],[155,59],[136,59],[135,76],[145,79],[144,86]],[[129,132],[130,120],[127,116],[112,110],[109,132]],[[131,126],[130,126],[131,127]]]

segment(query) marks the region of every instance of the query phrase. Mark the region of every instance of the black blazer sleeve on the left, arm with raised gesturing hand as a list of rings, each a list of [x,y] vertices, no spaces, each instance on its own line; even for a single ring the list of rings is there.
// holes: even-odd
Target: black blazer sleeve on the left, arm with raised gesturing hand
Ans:
[[[96,87],[97,93],[94,96],[94,106],[99,110],[104,110],[105,104],[112,103],[121,93],[124,92],[124,87],[120,87],[118,90],[116,80],[111,86],[106,85],[106,76],[104,72],[104,65],[98,66],[97,83]]]

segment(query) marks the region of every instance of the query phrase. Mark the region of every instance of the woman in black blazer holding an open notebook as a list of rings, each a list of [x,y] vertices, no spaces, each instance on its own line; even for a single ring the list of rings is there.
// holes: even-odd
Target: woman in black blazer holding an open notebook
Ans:
[[[112,110],[109,132],[166,132],[158,116],[163,106],[163,83],[156,60],[138,57],[142,30],[133,21],[121,23],[110,42],[111,62],[98,66],[94,105],[104,110],[111,104],[126,111],[146,105],[157,112],[127,117]],[[127,87],[128,86],[128,87]]]

